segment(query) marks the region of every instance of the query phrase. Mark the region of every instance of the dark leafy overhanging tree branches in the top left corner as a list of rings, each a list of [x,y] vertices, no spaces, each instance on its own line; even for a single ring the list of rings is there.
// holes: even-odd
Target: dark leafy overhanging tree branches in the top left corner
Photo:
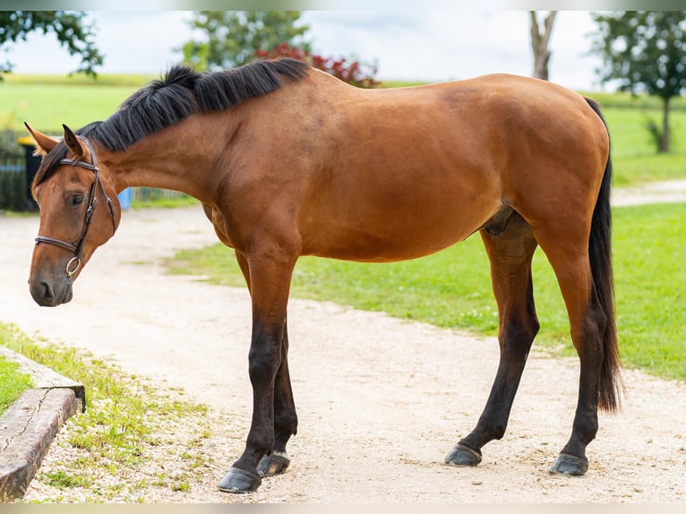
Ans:
[[[68,11],[0,11],[0,48],[26,40],[35,30],[44,34],[55,33],[60,45],[66,47],[70,56],[81,55],[81,65],[74,73],[96,76],[95,68],[102,64],[103,56],[95,46],[95,28],[86,24],[86,13]],[[0,63],[2,73],[12,71],[9,61]]]

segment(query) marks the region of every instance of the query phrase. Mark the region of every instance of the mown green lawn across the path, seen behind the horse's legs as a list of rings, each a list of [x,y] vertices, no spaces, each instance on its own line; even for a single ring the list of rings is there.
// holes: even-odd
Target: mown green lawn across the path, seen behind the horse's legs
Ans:
[[[679,235],[686,204],[622,207],[613,214],[617,325],[624,364],[686,380],[686,246]],[[178,253],[167,266],[174,273],[244,287],[233,252],[221,244]],[[573,355],[562,296],[540,249],[534,260],[534,288],[541,321],[536,344]],[[296,265],[292,296],[479,334],[494,335],[498,327],[488,261],[478,236],[423,259],[391,264],[304,257]]]

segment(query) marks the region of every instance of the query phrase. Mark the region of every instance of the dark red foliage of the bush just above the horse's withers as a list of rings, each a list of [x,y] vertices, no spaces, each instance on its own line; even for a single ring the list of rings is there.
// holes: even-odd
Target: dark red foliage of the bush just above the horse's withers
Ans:
[[[257,50],[255,55],[266,59],[290,57],[304,61],[358,88],[373,88],[381,83],[374,80],[374,75],[378,71],[376,64],[363,64],[360,61],[348,62],[345,57],[324,57],[318,54],[310,54],[302,48],[290,47],[287,43],[281,43],[270,50]]]

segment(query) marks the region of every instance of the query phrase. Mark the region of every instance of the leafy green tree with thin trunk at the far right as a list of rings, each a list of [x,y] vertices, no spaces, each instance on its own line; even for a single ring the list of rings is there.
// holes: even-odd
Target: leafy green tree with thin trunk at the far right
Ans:
[[[619,90],[645,92],[663,102],[663,121],[648,129],[658,152],[669,151],[670,100],[686,90],[686,12],[620,11],[592,13],[598,30],[593,51],[603,57],[600,81],[617,81]]]

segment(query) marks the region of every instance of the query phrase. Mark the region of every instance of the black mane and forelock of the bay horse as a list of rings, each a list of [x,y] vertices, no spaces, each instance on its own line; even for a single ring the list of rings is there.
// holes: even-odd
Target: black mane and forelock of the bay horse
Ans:
[[[126,150],[145,136],[196,113],[234,107],[245,100],[278,90],[282,77],[301,79],[308,65],[295,59],[259,60],[220,72],[195,72],[172,66],[160,79],[134,92],[105,121],[76,131],[112,151]],[[49,176],[66,155],[64,141],[45,158],[34,184]]]

